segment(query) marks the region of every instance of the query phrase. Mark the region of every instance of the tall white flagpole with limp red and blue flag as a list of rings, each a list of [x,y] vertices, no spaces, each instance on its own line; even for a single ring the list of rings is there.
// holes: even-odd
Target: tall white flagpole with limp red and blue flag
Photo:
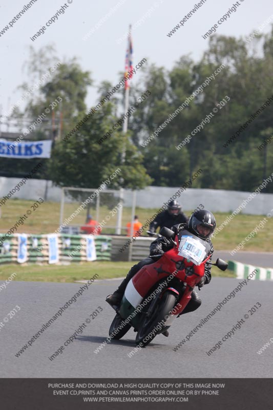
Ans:
[[[132,29],[132,26],[130,24],[129,34],[128,34],[128,56],[130,54],[131,29]],[[127,56],[127,58],[128,58],[128,56]],[[129,70],[129,61],[128,61],[128,63],[125,63],[125,65],[127,65],[127,64],[128,64],[128,67],[125,67],[125,69],[127,68],[127,70]],[[130,87],[127,84],[127,81],[125,81],[124,114],[127,113],[128,108],[129,108],[129,93],[130,93]],[[128,116],[125,115],[125,119],[124,119],[123,126],[122,126],[123,145],[122,145],[122,149],[121,149],[120,165],[122,165],[125,161],[125,154],[126,154],[126,139],[125,139],[125,136],[127,134],[127,131],[128,131]],[[117,228],[116,228],[116,234],[117,235],[121,234],[123,199],[124,199],[124,190],[123,190],[123,188],[120,188],[120,190],[119,190],[120,208],[119,208],[119,211],[118,211],[118,214],[117,214]]]

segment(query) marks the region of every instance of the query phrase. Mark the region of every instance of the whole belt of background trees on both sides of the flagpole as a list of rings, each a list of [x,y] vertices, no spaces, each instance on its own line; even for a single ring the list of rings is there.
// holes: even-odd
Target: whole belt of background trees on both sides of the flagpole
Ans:
[[[198,61],[182,55],[169,71],[146,64],[130,90],[130,105],[139,104],[129,118],[127,136],[117,129],[102,144],[97,142],[123,113],[124,90],[120,88],[111,97],[111,103],[92,114],[68,141],[56,140],[51,160],[45,161],[50,165],[47,176],[60,185],[95,187],[119,167],[122,177],[116,178],[112,187],[142,188],[151,181],[153,185],[175,187],[182,186],[202,168],[195,187],[256,189],[273,167],[271,145],[268,143],[263,150],[257,148],[272,133],[273,101],[255,120],[250,120],[272,97],[273,27],[271,33],[250,40],[216,34],[209,38],[208,48]],[[30,73],[36,78],[41,66],[46,67],[57,58],[51,47],[45,55],[34,49],[31,53]],[[123,74],[119,76],[122,78]],[[210,80],[204,87],[207,78]],[[90,73],[82,71],[76,59],[61,63],[47,84],[29,100],[23,113],[35,118],[52,100],[62,98],[61,104],[43,121],[36,138],[50,138],[53,119],[60,124],[61,115],[62,135],[73,130],[86,115],[85,98],[91,84]],[[194,95],[201,86],[202,92]],[[99,100],[112,88],[109,81],[102,81]],[[171,118],[170,114],[188,99],[191,102]],[[225,104],[220,105],[224,100]],[[23,114],[17,113],[20,120]],[[162,124],[165,126],[155,135]],[[244,124],[247,127],[237,135]],[[230,139],[234,135],[236,138]],[[187,143],[176,149],[186,138]],[[148,142],[143,144],[145,141]],[[126,158],[121,165],[124,149]],[[9,161],[12,160],[4,159],[10,166]],[[22,163],[14,169],[19,168]],[[266,189],[273,192],[273,184]]]

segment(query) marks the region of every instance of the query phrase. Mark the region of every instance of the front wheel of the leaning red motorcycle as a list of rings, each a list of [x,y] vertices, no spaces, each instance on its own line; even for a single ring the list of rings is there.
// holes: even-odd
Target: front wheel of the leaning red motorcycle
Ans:
[[[157,306],[155,307],[154,312],[149,315],[143,316],[143,321],[139,328],[139,331],[136,335],[136,344],[140,347],[145,347],[156,337],[157,333],[150,334],[155,327],[162,321],[166,321],[165,316],[173,310],[174,305],[176,304],[176,297],[173,293],[166,292],[159,299]],[[163,329],[164,326],[161,326]],[[149,336],[149,338],[148,338]],[[144,339],[146,339],[144,341]],[[148,339],[148,340],[147,340]]]

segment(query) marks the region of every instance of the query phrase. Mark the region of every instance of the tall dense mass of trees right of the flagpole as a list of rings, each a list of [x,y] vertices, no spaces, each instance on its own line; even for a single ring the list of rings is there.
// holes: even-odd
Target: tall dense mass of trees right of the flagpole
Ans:
[[[162,67],[145,66],[144,81],[140,80],[141,86],[135,87],[134,92],[150,85],[153,98],[151,96],[134,113],[130,128],[155,185],[182,185],[195,169],[202,168],[205,172],[196,182],[198,187],[248,191],[256,189],[272,168],[271,146],[267,146],[266,170],[264,154],[257,146],[270,135],[273,102],[224,147],[272,95],[269,91],[273,89],[273,28],[270,34],[257,36],[253,44],[249,45],[244,38],[214,35],[197,62],[182,56],[169,72]],[[222,64],[225,67],[213,78]],[[149,144],[141,147],[141,142],[149,138],[207,77],[213,79],[203,92]],[[223,99],[229,100],[224,107],[219,107]],[[208,114],[215,113],[215,108],[218,112],[204,123]],[[202,127],[196,132],[201,122]],[[177,152],[175,147],[188,135],[191,141]],[[273,192],[273,184],[267,186],[267,192]]]

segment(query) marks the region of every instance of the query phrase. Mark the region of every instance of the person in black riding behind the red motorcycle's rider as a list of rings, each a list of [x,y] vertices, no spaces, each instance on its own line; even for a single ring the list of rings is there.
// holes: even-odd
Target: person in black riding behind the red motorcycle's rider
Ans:
[[[186,223],[188,218],[181,211],[181,206],[177,200],[171,200],[167,204],[167,209],[160,212],[155,219],[150,223],[148,235],[152,236],[156,233],[158,227],[172,228],[178,223]]]

